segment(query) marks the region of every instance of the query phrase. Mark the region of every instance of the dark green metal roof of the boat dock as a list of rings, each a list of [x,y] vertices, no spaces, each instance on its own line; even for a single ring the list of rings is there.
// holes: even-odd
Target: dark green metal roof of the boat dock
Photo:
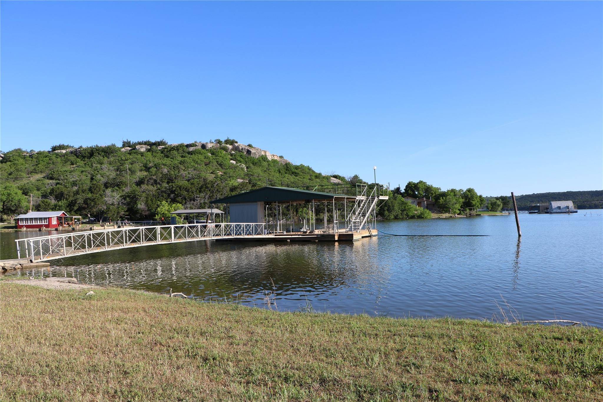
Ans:
[[[291,189],[289,187],[261,187],[259,189],[242,192],[214,199],[211,204],[236,204],[258,202],[283,202],[283,201],[312,201],[312,199],[356,198],[352,195],[321,193],[318,191]]]

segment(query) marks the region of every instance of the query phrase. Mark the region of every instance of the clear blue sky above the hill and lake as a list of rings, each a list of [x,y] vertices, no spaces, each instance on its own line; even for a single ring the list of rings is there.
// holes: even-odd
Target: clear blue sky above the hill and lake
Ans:
[[[8,151],[235,138],[484,195],[603,188],[602,2],[2,2]]]

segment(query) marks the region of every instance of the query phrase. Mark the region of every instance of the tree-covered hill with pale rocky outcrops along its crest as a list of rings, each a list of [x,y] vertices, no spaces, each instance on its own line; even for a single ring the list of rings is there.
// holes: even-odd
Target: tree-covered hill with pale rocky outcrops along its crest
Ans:
[[[127,141],[124,146],[132,149],[60,144],[51,151],[7,152],[0,161],[2,215],[6,219],[27,212],[32,194],[34,210],[153,219],[162,201],[203,208],[212,199],[264,186],[267,180],[271,186],[335,181],[309,166],[292,165],[230,139],[172,145]]]

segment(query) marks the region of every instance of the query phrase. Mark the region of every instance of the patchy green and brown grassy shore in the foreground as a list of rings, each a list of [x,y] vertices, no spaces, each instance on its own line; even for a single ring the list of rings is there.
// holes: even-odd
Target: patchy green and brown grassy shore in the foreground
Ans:
[[[603,400],[603,331],[0,281],[0,400]]]

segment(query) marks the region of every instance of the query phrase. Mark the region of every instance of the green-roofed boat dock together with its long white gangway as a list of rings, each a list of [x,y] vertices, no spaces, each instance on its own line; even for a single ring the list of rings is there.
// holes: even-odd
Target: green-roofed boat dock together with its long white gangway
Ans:
[[[178,219],[180,224],[17,239],[18,259],[0,263],[2,267],[29,268],[31,263],[82,254],[198,240],[339,242],[377,236],[376,208],[380,199],[387,199],[386,187],[362,184],[345,191],[337,187],[332,193],[317,190],[262,187],[212,201],[226,206],[229,214],[223,219],[230,222],[185,223],[178,216],[172,222]]]

